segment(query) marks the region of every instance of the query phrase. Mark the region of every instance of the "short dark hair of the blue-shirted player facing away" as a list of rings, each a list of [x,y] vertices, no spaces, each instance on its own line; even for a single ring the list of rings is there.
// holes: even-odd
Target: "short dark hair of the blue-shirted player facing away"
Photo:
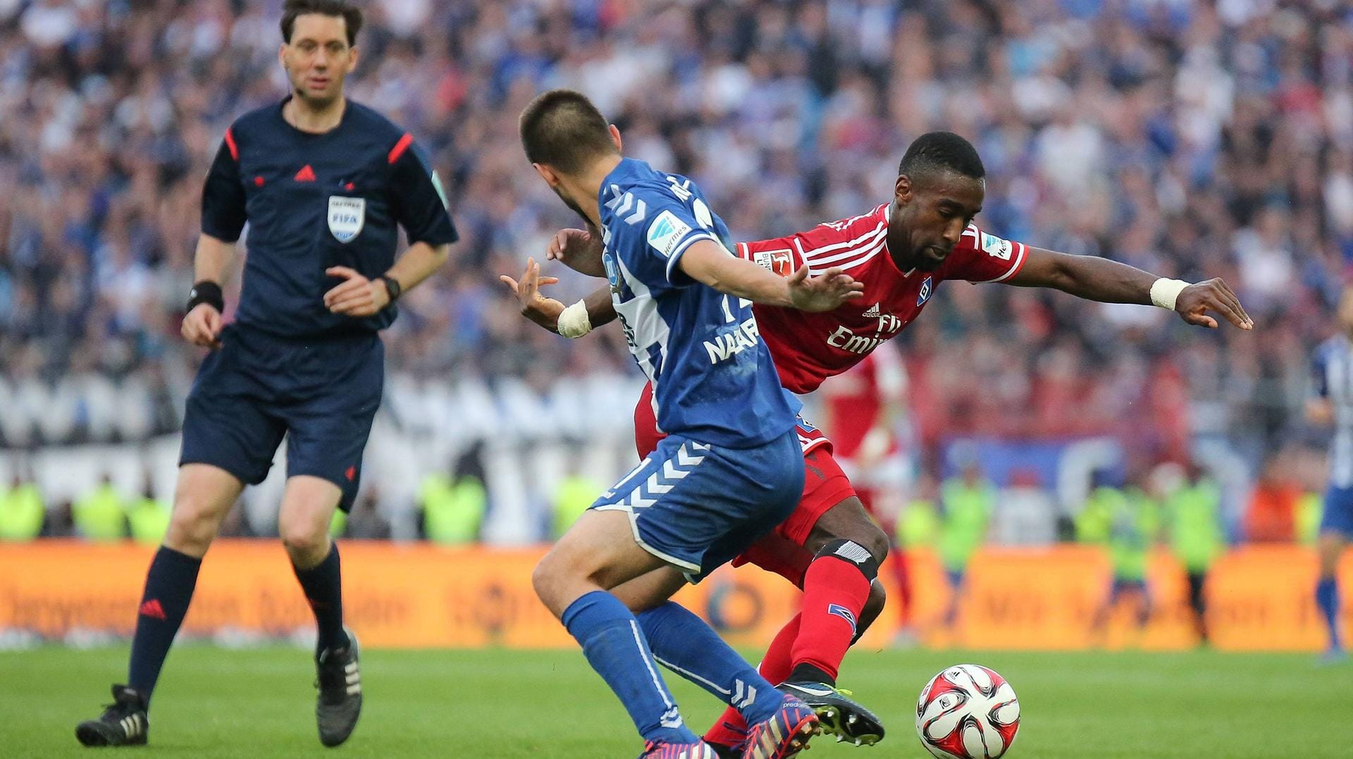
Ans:
[[[518,122],[526,160],[576,175],[598,156],[616,153],[610,124],[582,92],[551,89],[536,96]]]

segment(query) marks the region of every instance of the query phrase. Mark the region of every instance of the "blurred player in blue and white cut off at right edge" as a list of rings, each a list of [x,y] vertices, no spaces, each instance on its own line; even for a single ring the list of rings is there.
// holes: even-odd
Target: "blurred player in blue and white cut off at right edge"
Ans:
[[[1330,445],[1330,486],[1325,491],[1318,553],[1321,575],[1315,603],[1325,621],[1327,647],[1323,659],[1346,658],[1339,640],[1339,590],[1335,582],[1339,556],[1353,537],[1353,287],[1344,290],[1338,310],[1339,334],[1315,352],[1315,398],[1307,405],[1307,418],[1334,425]]]

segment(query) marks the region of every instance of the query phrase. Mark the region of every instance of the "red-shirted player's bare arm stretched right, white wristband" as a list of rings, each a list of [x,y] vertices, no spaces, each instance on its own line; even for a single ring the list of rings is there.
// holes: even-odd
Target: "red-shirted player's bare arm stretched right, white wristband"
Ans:
[[[1096,256],[1070,256],[1030,248],[1024,267],[1007,284],[1050,287],[1100,303],[1161,306],[1178,313],[1191,325],[1210,329],[1215,329],[1218,323],[1208,311],[1239,329],[1254,327],[1254,321],[1245,313],[1235,292],[1219,277],[1188,284]]]

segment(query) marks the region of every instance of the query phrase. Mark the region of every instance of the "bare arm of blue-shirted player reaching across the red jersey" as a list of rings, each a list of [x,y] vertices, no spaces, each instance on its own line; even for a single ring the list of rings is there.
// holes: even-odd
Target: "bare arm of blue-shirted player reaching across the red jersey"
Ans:
[[[789,277],[774,275],[733,256],[712,239],[693,242],[676,265],[690,279],[727,295],[802,311],[831,311],[861,298],[865,291],[863,283],[840,269],[828,269],[816,277],[808,276],[808,267]]]

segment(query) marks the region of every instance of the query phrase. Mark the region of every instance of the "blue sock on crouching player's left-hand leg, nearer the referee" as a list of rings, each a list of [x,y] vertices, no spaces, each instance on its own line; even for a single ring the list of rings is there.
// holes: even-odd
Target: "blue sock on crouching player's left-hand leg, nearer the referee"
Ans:
[[[645,740],[700,740],[682,721],[676,699],[658,674],[639,622],[618,598],[594,590],[570,603],[560,621],[583,647],[597,674],[620,697]]]

